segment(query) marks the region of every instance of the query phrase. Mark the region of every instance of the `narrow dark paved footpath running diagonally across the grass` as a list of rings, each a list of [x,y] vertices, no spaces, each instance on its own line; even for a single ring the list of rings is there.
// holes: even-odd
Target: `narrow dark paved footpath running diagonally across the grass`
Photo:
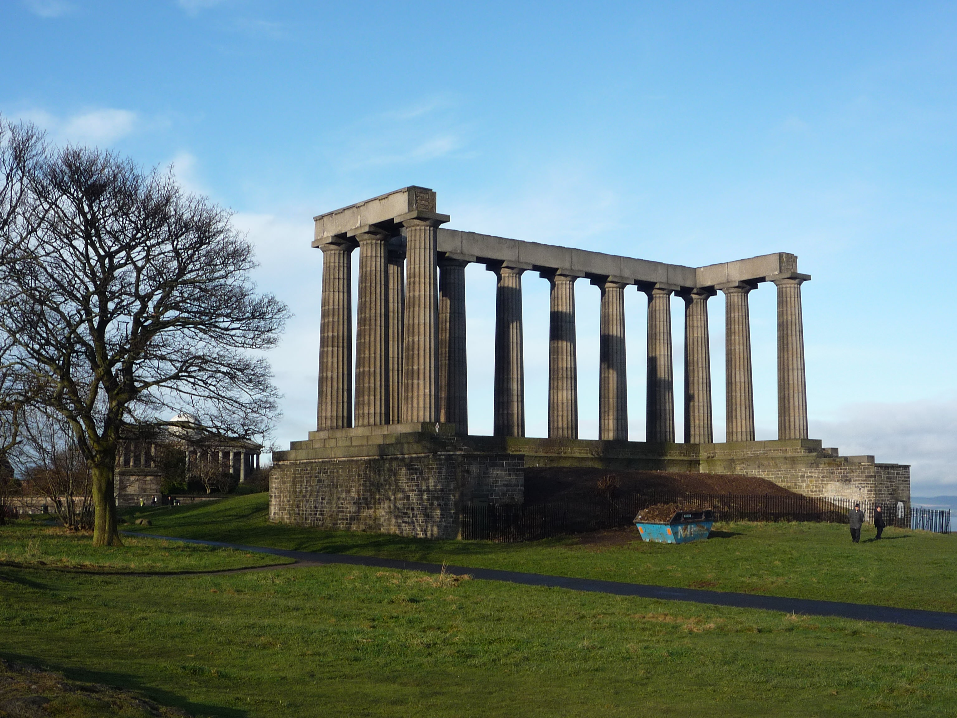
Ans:
[[[276,556],[295,558],[297,561],[307,562],[313,566],[317,563],[348,564],[350,566],[371,566],[379,569],[421,571],[426,573],[438,573],[442,571],[440,564],[402,561],[394,558],[378,558],[377,556],[353,556],[344,553],[272,549],[262,546],[227,544],[221,541],[201,541],[199,539],[184,539],[174,536],[159,536],[152,533],[140,533],[139,531],[130,532],[130,535],[148,536],[150,538],[167,539],[168,541],[183,541],[188,544],[202,544],[204,546],[219,546],[225,549],[271,553]],[[594,578],[571,578],[568,576],[551,576],[542,573],[501,571],[500,569],[477,569],[468,566],[446,566],[445,572],[469,573],[473,578],[486,581],[519,583],[523,586],[545,586],[547,588],[569,589],[571,591],[590,591],[597,594],[636,595],[640,598],[662,598],[670,601],[710,603],[716,606],[757,608],[766,611],[783,611],[788,614],[804,614],[807,616],[837,616],[841,618],[854,618],[856,620],[873,620],[881,623],[901,623],[902,625],[915,626],[916,628],[957,631],[957,614],[945,613],[943,611],[891,608],[889,606],[872,606],[866,603],[815,601],[812,598],[785,598],[777,595],[733,594],[731,592],[705,591],[703,589],[677,589],[668,586],[646,586],[640,583],[602,581]]]

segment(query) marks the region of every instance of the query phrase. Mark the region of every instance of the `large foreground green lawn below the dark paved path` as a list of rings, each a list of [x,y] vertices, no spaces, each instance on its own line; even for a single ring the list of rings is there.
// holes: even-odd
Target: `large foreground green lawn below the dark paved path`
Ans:
[[[957,705],[954,633],[339,565],[0,567],[0,626],[4,658],[194,715],[940,716]]]

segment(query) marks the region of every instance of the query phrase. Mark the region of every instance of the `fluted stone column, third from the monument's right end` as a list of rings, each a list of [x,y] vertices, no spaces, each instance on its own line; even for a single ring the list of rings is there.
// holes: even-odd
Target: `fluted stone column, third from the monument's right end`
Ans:
[[[714,441],[711,418],[711,347],[708,341],[708,299],[715,290],[682,292],[684,300],[684,442]]]

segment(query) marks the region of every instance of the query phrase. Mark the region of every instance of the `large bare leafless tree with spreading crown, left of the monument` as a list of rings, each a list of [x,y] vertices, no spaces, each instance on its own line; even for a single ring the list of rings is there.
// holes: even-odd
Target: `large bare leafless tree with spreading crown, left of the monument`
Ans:
[[[276,345],[288,312],[256,292],[231,213],[171,172],[88,147],[9,145],[27,191],[0,235],[0,332],[89,464],[94,545],[121,545],[122,428],[189,412],[218,433],[264,431],[278,393],[250,352]]]

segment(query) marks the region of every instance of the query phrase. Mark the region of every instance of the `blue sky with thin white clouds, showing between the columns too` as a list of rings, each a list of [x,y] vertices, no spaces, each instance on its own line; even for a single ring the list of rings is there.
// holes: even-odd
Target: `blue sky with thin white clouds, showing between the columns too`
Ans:
[[[912,463],[915,493],[957,492],[953,3],[26,0],[0,26],[0,112],[172,163],[237,213],[257,280],[295,312],[272,357],[280,444],[315,420],[311,217],[417,184],[456,229],[696,266],[797,254],[812,437]],[[470,421],[490,433],[494,278],[467,280]],[[542,436],[547,284],[526,274],[523,290]],[[641,439],[643,295],[626,305]],[[723,298],[710,305],[721,438]],[[597,307],[579,282],[585,438]],[[758,438],[773,438],[772,287],[751,315]],[[677,300],[673,317],[680,357]]]

